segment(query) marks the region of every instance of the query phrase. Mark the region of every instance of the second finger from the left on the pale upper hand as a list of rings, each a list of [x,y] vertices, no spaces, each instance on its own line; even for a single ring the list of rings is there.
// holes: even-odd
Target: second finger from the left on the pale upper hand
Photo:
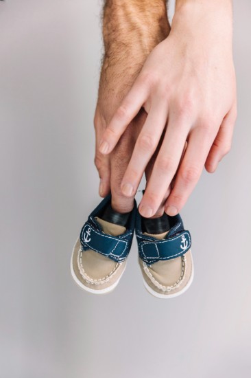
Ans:
[[[156,102],[147,116],[132,153],[132,158],[121,182],[121,190],[126,196],[132,196],[143,177],[145,167],[151,159],[167,122],[167,104]]]

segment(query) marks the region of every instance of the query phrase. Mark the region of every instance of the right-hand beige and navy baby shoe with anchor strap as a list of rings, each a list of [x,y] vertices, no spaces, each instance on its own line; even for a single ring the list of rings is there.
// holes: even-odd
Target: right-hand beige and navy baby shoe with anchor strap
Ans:
[[[165,216],[169,231],[151,234],[145,232],[144,218],[137,210],[135,233],[145,288],[157,298],[174,298],[193,280],[191,235],[179,214]]]

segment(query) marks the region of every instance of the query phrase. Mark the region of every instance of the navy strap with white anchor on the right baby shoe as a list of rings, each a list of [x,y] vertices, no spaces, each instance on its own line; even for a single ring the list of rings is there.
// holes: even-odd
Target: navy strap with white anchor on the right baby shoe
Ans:
[[[143,235],[145,236],[145,235]],[[139,256],[145,263],[152,264],[160,260],[170,260],[182,256],[191,248],[191,235],[189,231],[164,240],[154,241],[151,237],[141,236],[139,242]]]

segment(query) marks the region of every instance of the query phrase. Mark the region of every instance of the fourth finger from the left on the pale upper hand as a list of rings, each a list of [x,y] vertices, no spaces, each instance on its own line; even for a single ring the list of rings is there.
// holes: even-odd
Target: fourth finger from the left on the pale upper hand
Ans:
[[[165,205],[165,212],[168,215],[174,216],[180,212],[197,184],[215,137],[214,130],[213,126],[211,128],[200,126],[189,135],[187,150],[180,164],[174,188]]]

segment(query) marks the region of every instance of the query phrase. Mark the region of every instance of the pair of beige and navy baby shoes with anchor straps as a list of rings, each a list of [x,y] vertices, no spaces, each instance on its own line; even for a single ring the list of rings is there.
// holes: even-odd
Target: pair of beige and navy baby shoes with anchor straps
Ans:
[[[77,285],[95,294],[115,289],[125,271],[134,230],[147,291],[157,298],[184,293],[193,280],[193,260],[191,235],[180,215],[146,219],[135,200],[130,213],[120,214],[112,210],[110,194],[88,216],[73,247],[71,274]]]

